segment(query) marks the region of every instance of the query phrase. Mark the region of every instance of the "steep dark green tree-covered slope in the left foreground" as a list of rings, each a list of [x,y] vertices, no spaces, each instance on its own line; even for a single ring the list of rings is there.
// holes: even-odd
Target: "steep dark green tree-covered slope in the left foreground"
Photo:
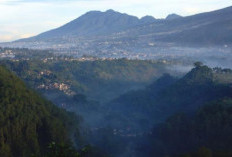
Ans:
[[[0,156],[43,156],[49,143],[71,144],[79,119],[26,88],[0,67]]]

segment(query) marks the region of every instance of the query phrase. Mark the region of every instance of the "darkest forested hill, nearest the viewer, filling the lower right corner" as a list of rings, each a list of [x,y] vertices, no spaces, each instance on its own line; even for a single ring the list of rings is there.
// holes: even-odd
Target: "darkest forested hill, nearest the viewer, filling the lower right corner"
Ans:
[[[151,145],[155,154],[162,150],[160,154],[174,155],[201,148],[185,156],[230,157],[231,124],[232,99],[222,99],[201,107],[194,116],[176,114],[170,117],[165,124],[155,128],[153,139],[156,141]]]

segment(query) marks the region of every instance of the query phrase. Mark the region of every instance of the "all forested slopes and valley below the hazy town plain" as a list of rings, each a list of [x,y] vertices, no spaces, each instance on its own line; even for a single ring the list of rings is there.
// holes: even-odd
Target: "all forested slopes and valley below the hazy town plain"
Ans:
[[[60,57],[1,64],[53,103],[82,115],[90,128],[79,134],[80,117],[0,67],[0,156],[105,156],[96,146],[112,156],[231,155],[229,69],[197,62],[175,78],[164,74],[166,64],[153,61]],[[79,136],[94,147],[76,150],[70,136],[79,148]]]

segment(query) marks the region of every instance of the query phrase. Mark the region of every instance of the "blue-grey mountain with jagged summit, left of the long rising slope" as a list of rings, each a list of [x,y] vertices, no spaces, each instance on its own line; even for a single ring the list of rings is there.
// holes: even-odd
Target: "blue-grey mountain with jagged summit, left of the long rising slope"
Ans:
[[[107,10],[106,12],[90,11],[57,29],[42,33],[35,38],[46,39],[62,36],[91,37],[109,35],[155,21],[156,19],[152,16],[145,16],[139,19],[135,16],[122,14],[114,10]]]

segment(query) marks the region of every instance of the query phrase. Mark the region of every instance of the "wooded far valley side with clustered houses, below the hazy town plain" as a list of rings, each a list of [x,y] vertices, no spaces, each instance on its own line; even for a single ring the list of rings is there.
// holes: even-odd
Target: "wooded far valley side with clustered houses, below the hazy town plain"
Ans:
[[[14,71],[30,87],[41,87],[39,91],[46,96],[57,95],[51,100],[60,101],[67,100],[67,96],[74,93],[81,93],[90,99],[107,102],[131,89],[147,85],[168,71],[167,65],[162,62],[127,59],[78,61],[61,57],[52,60],[8,60],[1,64]],[[51,87],[54,83],[64,83],[70,89],[60,93]]]

